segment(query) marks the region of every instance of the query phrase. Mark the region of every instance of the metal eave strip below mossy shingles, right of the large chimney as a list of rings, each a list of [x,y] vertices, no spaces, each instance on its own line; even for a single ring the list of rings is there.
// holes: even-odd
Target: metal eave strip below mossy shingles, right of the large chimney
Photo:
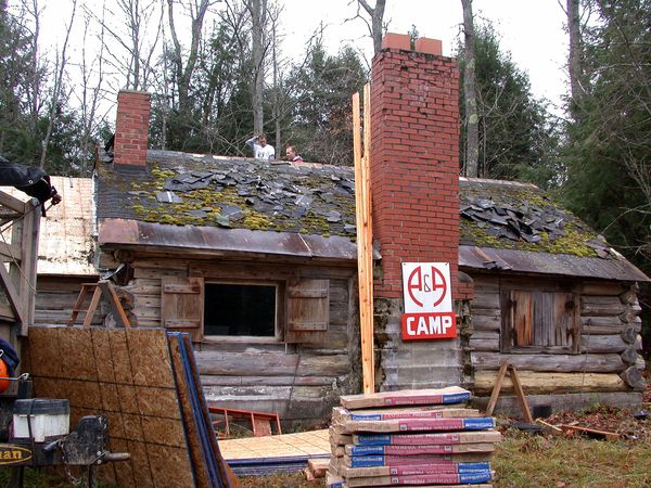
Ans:
[[[608,258],[459,246],[459,266],[477,270],[553,274],[617,281],[651,281],[616,252]]]

